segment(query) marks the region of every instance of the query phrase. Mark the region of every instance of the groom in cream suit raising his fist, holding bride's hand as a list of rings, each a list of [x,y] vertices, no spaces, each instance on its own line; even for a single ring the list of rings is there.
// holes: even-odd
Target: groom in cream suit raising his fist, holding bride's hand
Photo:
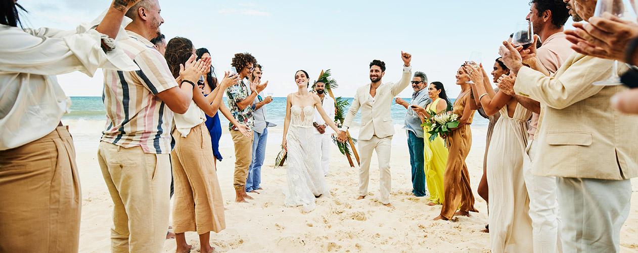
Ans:
[[[380,197],[379,201],[388,207],[390,204],[390,150],[392,150],[392,135],[394,125],[390,116],[390,107],[394,96],[399,95],[408,87],[412,77],[412,55],[401,52],[403,59],[403,75],[397,84],[382,84],[381,79],[385,75],[385,63],[374,60],[370,63],[370,84],[357,89],[357,94],[348,110],[345,122],[339,131],[339,141],[346,141],[346,130],[352,124],[352,120],[361,109],[361,128],[359,130],[359,151],[361,155],[361,167],[359,168],[359,197],[363,199],[367,195],[369,181],[370,160],[372,152],[376,150],[380,173]]]

